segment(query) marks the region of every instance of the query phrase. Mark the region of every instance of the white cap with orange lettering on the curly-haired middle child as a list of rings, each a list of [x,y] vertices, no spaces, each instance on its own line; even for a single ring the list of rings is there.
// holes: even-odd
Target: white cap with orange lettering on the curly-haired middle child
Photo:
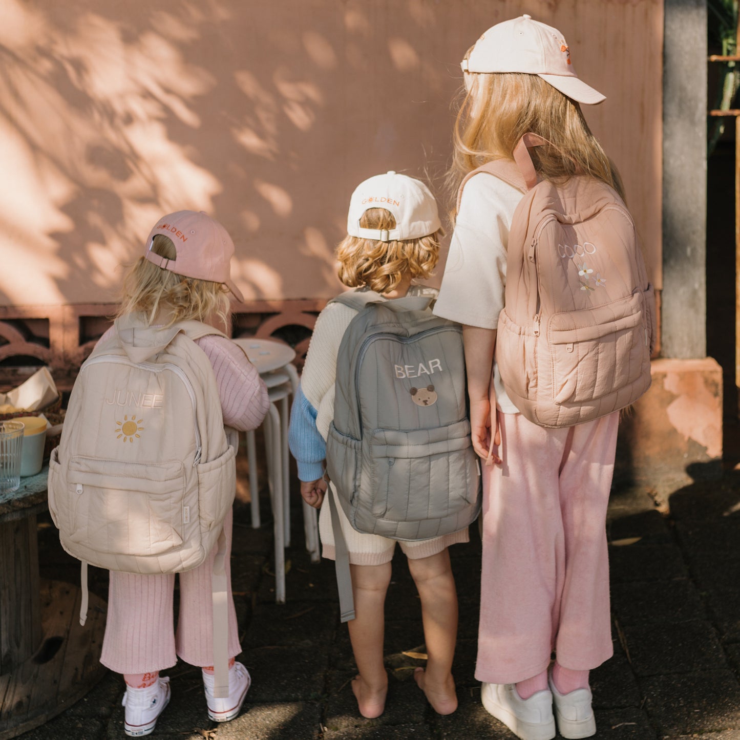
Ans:
[[[363,229],[360,218],[371,208],[385,208],[396,219],[395,229]],[[392,169],[375,175],[354,189],[349,201],[347,233],[363,239],[396,241],[419,239],[440,229],[437,201],[422,181]]]

